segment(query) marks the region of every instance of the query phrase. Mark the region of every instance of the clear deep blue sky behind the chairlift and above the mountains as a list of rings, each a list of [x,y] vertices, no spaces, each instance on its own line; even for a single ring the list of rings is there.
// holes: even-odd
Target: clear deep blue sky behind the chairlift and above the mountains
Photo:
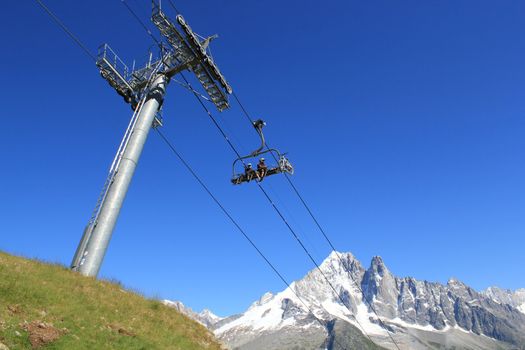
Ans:
[[[147,21],[149,1],[130,5]],[[93,51],[152,42],[118,0],[47,0]],[[525,287],[522,1],[178,1],[335,246],[399,276]],[[169,11],[169,9],[168,9]],[[171,13],[173,14],[173,13]],[[69,264],[131,116],[33,1],[0,13],[0,249]],[[153,29],[153,28],[152,28]],[[156,31],[154,31],[156,33]],[[163,132],[282,271],[313,268],[234,154],[171,84]],[[215,112],[245,152],[240,109]],[[265,181],[318,261],[330,248],[283,178]],[[150,134],[101,275],[220,315],[282,283]]]

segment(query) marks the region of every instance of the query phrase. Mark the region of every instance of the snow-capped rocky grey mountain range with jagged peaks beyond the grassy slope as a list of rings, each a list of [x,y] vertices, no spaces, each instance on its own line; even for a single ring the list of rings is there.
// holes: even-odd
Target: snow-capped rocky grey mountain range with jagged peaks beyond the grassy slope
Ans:
[[[339,296],[314,269],[208,326],[231,349],[396,349],[391,337],[410,350],[525,349],[523,290],[400,278],[380,257],[365,269],[350,253],[332,252],[321,270]]]

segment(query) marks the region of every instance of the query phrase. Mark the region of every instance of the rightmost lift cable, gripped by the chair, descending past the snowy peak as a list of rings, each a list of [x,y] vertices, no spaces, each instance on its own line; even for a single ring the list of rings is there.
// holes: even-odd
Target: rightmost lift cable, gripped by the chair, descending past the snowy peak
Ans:
[[[232,93],[233,97],[235,98],[235,100],[237,101],[237,104],[241,107],[242,111],[244,112],[244,115],[246,116],[246,118],[248,119],[248,121],[250,122],[250,124],[253,124],[253,119],[252,117],[250,116],[250,114],[248,113],[248,111],[246,110],[246,108],[244,107],[244,105],[241,103],[239,97],[237,96],[237,94],[235,93],[235,91]],[[270,148],[270,146],[268,145],[268,143],[266,144],[266,148]],[[272,156],[274,157],[275,159],[275,155],[272,154]],[[286,180],[287,182],[290,184],[290,186],[292,187],[293,191],[295,192],[295,194],[297,195],[297,197],[299,198],[299,200],[301,201],[301,203],[303,204],[303,206],[305,207],[306,211],[308,212],[308,214],[310,215],[310,217],[312,218],[312,220],[314,221],[315,225],[317,226],[317,228],[319,229],[319,231],[322,233],[323,237],[325,238],[325,240],[327,241],[327,243],[330,245],[330,247],[332,248],[332,250],[336,253],[337,255],[337,258],[339,260],[339,262],[341,263],[341,265],[343,267],[345,267],[345,264],[344,264],[344,261],[343,261],[343,258],[341,257],[341,254],[339,253],[339,251],[337,251],[337,249],[335,249],[335,246],[334,244],[332,243],[332,240],[328,237],[328,234],[326,233],[326,231],[323,229],[323,227],[321,226],[321,224],[319,223],[319,220],[317,220],[316,216],[314,215],[313,211],[310,209],[310,206],[306,203],[304,197],[301,195],[301,193],[299,192],[299,190],[297,189],[297,187],[295,186],[295,184],[293,183],[292,179],[288,176],[288,174],[284,174],[284,176],[286,177]],[[372,312],[374,313],[374,315],[377,317],[379,323],[381,324],[382,328],[384,328],[390,338],[390,340],[392,340],[392,342],[394,343],[394,345],[396,346],[396,348],[399,350],[399,345],[397,344],[397,342],[394,340],[394,337],[392,336],[392,334],[390,333],[388,327],[385,325],[385,323],[383,322],[383,320],[381,319],[381,317],[379,317],[379,314],[377,312],[377,310],[375,309],[373,303],[368,299],[368,297],[366,296],[366,294],[363,292],[363,289],[361,288],[360,284],[356,281],[356,279],[354,278],[354,276],[352,276],[349,268],[347,267],[346,268],[346,271],[348,273],[348,276],[350,276],[350,278],[352,279],[354,285],[357,287],[357,289],[359,290],[359,292],[361,293],[361,295],[363,296],[363,299],[365,300],[365,302],[368,304],[368,306],[370,307],[370,309],[372,310]]]

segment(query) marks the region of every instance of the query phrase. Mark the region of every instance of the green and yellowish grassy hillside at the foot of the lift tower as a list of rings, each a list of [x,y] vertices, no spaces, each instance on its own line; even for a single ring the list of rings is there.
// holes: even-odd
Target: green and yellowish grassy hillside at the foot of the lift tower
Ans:
[[[0,343],[30,349],[26,321],[61,330],[45,349],[220,349],[203,326],[158,301],[0,253]]]

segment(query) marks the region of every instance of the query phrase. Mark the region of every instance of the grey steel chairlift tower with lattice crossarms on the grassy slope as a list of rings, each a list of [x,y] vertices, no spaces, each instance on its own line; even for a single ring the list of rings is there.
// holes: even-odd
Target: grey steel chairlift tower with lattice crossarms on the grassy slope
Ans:
[[[191,71],[219,111],[229,107],[232,89],[208,52],[216,36],[200,40],[181,15],[172,22],[155,1],[151,20],[168,45],[162,42],[159,58],[150,54],[145,67],[129,69],[107,44],[99,49],[100,74],[134,112],[71,263],[86,276],[98,275],[149,130],[162,126],[160,111],[170,79]]]

